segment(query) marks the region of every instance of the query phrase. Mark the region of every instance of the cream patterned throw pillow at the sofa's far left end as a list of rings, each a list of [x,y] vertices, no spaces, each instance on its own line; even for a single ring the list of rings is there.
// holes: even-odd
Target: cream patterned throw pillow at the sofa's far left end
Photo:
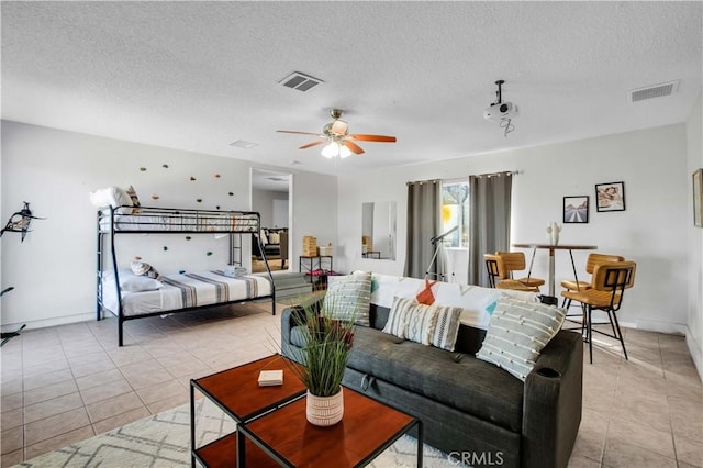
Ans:
[[[369,326],[371,304],[371,274],[355,272],[327,277],[327,292],[323,309],[333,319],[349,320],[358,325]]]

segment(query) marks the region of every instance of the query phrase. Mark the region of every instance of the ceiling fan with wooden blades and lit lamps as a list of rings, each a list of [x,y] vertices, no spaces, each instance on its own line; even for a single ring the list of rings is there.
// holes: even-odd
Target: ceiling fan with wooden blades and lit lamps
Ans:
[[[306,149],[312,146],[326,144],[322,149],[322,155],[327,158],[341,157],[345,158],[353,154],[364,154],[364,149],[355,143],[358,142],[380,142],[395,143],[394,136],[387,135],[369,135],[366,133],[349,133],[348,124],[341,120],[342,109],[332,109],[330,115],[334,119],[322,129],[322,133],[297,132],[293,130],[278,130],[280,133],[294,133],[299,135],[315,135],[320,141],[302,145],[300,149]]]

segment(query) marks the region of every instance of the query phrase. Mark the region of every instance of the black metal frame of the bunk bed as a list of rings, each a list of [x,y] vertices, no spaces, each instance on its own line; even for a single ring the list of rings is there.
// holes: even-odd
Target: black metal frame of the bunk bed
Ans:
[[[213,211],[213,210],[196,210],[196,209],[171,209],[171,208],[150,208],[150,207],[140,207],[141,213],[138,215],[146,216],[165,216],[169,220],[185,220],[186,223],[181,223],[178,229],[165,229],[165,226],[172,226],[167,223],[159,223],[154,221],[148,221],[145,223],[140,223],[140,225],[146,226],[145,229],[129,229],[129,230],[115,230],[115,214],[121,213],[122,211],[131,211],[133,207],[110,207],[110,211],[107,210],[98,210],[98,222],[97,222],[97,234],[98,234],[98,265],[97,265],[97,302],[96,302],[96,320],[102,320],[102,312],[104,310],[115,314],[114,311],[108,309],[103,303],[103,271],[104,271],[104,239],[107,236],[110,237],[110,254],[111,254],[111,267],[114,272],[114,282],[118,292],[118,345],[122,346],[124,341],[124,322],[129,320],[144,319],[147,316],[155,315],[164,315],[167,313],[179,313],[179,312],[188,312],[194,311],[199,309],[208,309],[214,308],[225,304],[232,304],[237,302],[246,302],[248,300],[255,299],[271,299],[271,315],[276,315],[276,288],[274,285],[274,276],[271,275],[271,269],[268,265],[268,259],[266,258],[266,253],[264,252],[264,245],[261,243],[260,235],[258,235],[259,230],[261,227],[261,216],[258,212],[255,211]],[[144,213],[144,214],[142,214]],[[120,215],[120,214],[118,214]],[[242,226],[237,226],[235,222],[233,225],[231,224],[230,229],[221,229],[222,225],[219,224],[222,221],[226,221],[231,216],[230,221],[236,219],[236,215],[241,215],[247,224]],[[135,216],[132,214],[131,216]],[[105,218],[109,218],[109,227],[104,225]],[[252,220],[255,220],[255,226],[250,224]],[[211,222],[215,222],[215,224],[210,224]],[[119,223],[118,223],[119,224]],[[153,226],[153,227],[152,227]],[[203,229],[203,226],[205,226]],[[159,229],[160,227],[160,229]],[[239,227],[239,229],[237,229]],[[228,234],[230,237],[230,265],[238,265],[242,266],[242,234],[254,235],[257,239],[259,249],[263,253],[264,265],[266,266],[266,271],[268,276],[268,280],[271,286],[271,293],[269,296],[258,296],[256,298],[250,299],[236,299],[228,302],[220,302],[208,305],[196,305],[176,310],[168,311],[159,311],[159,312],[149,312],[137,315],[129,315],[125,316],[122,309],[122,289],[120,287],[120,272],[118,268],[118,255],[115,249],[115,236],[123,234]],[[238,245],[235,245],[235,236],[238,236]],[[238,259],[235,258],[235,250],[238,250]]]

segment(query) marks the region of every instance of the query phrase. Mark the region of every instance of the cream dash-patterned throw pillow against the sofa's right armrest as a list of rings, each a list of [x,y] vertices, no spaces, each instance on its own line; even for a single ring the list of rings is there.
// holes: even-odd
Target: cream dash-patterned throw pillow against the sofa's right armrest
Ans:
[[[476,357],[525,381],[542,349],[561,328],[565,316],[561,308],[501,298]]]

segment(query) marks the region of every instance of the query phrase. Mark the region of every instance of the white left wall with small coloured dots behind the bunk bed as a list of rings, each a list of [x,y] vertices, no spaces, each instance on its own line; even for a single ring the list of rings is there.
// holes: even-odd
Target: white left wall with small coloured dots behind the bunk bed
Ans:
[[[24,243],[13,233],[1,238],[2,288],[15,287],[2,297],[3,331],[22,323],[38,327],[94,316],[96,209],[88,194],[98,188],[133,185],[144,205],[250,209],[250,164],[237,159],[2,121],[1,163],[2,220],[24,200],[37,216],[46,218],[32,223]],[[330,210],[336,207],[336,178],[306,172],[293,177],[305,180],[305,208],[336,218],[336,209]],[[331,196],[316,205],[304,186],[327,188]],[[336,238],[336,224],[319,216],[302,216],[297,227]],[[185,237],[120,236],[120,258],[126,265],[140,255],[163,274],[226,265],[226,239],[215,241],[210,234]]]

